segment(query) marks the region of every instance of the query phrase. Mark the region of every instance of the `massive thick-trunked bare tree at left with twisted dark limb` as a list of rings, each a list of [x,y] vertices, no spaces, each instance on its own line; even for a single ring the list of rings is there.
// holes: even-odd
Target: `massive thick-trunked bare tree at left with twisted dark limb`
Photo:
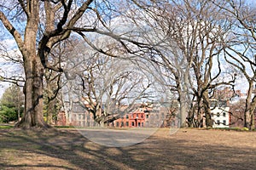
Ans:
[[[49,52],[72,31],[96,31],[100,15],[93,2],[18,0],[1,4],[0,20],[20,49],[26,77],[25,114],[17,127],[48,127],[43,118],[44,70],[62,71],[49,65]],[[22,21],[20,26],[17,18]],[[80,24],[82,18],[84,23]]]

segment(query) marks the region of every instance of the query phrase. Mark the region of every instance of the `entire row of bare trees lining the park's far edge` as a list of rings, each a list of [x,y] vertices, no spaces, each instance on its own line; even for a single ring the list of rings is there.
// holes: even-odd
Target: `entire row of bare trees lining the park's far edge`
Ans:
[[[195,117],[205,112],[211,127],[214,90],[241,76],[244,126],[254,128],[255,8],[247,2],[19,0],[1,4],[0,20],[23,57],[25,114],[17,127],[48,127],[43,96],[63,105],[67,96],[87,99],[102,123],[118,112],[112,102],[160,92],[177,97],[183,125],[187,117],[189,127],[201,126]]]

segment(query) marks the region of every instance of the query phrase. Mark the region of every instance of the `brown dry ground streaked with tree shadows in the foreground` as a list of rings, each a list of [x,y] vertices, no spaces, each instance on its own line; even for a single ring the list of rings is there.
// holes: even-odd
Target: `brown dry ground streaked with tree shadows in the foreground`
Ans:
[[[256,133],[160,129],[139,144],[108,147],[76,129],[2,129],[0,169],[256,169]]]

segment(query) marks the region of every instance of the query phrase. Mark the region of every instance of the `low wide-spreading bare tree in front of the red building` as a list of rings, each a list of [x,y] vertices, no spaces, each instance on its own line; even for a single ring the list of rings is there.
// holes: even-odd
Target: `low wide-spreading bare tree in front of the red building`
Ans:
[[[111,44],[107,45],[111,50]],[[77,55],[81,55],[79,59],[67,59],[68,91],[73,91],[68,98],[79,99],[102,126],[137,109],[138,103],[155,98],[154,80],[132,59],[109,57],[84,44],[76,46],[73,56]]]

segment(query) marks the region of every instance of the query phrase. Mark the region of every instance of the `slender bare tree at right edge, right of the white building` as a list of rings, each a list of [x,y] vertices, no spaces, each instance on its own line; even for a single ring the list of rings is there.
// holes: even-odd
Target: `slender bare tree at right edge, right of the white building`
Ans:
[[[224,59],[233,65],[246,78],[248,84],[247,99],[244,111],[244,127],[255,128],[254,110],[256,97],[253,94],[255,72],[255,7],[244,1],[231,0],[229,2],[213,3],[222,9],[222,14],[229,19],[229,37],[223,39],[225,46]]]

